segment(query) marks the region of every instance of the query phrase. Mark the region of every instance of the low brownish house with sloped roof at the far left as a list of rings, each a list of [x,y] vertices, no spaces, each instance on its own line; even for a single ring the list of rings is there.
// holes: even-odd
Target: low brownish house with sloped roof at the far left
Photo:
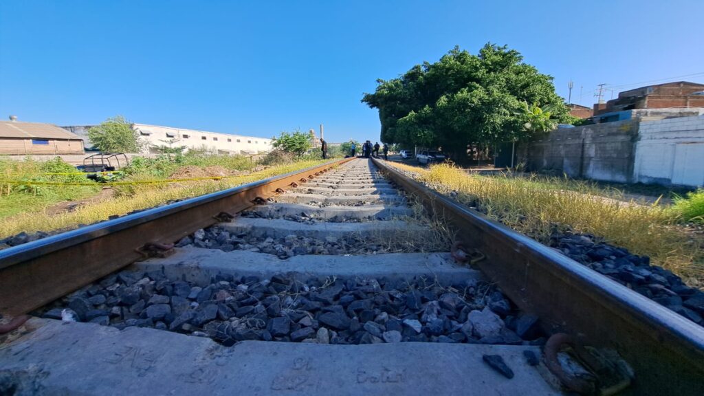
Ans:
[[[83,154],[83,141],[56,125],[0,121],[0,154]]]

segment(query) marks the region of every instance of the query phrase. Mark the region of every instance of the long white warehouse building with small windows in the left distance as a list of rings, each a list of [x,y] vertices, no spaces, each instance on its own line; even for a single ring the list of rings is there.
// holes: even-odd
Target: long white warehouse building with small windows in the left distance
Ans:
[[[172,128],[160,125],[132,124],[145,144],[145,153],[158,152],[155,147],[187,147],[187,149],[207,150],[218,154],[259,154],[273,149],[272,140],[264,137],[230,135],[220,132],[206,132]]]

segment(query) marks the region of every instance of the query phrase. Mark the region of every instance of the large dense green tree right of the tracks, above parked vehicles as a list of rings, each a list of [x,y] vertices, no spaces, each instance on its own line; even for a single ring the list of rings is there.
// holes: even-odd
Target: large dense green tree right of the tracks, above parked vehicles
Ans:
[[[567,119],[552,80],[508,47],[486,44],[477,55],[455,47],[435,63],[377,80],[362,101],[379,109],[382,141],[442,147],[464,161],[468,144],[526,140]]]

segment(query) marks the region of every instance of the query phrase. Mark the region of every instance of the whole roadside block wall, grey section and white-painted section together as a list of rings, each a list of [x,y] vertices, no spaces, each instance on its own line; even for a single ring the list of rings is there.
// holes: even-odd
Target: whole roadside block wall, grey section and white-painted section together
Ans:
[[[558,129],[519,149],[530,171],[573,178],[704,185],[704,115]]]

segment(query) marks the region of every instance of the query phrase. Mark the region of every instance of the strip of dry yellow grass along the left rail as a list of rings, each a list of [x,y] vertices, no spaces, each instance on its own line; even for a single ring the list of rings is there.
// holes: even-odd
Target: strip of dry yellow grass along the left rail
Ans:
[[[49,216],[44,211],[26,212],[4,218],[0,223],[0,238],[15,235],[22,231],[54,231],[76,228],[80,224],[105,221],[109,216],[130,213],[139,209],[148,209],[173,199],[185,199],[244,185],[249,182],[270,178],[315,166],[325,161],[301,161],[282,166],[273,166],[263,171],[242,175],[225,180],[204,180],[199,182],[182,182],[168,185],[135,185],[132,194],[120,195],[108,201],[80,206],[75,211]]]

